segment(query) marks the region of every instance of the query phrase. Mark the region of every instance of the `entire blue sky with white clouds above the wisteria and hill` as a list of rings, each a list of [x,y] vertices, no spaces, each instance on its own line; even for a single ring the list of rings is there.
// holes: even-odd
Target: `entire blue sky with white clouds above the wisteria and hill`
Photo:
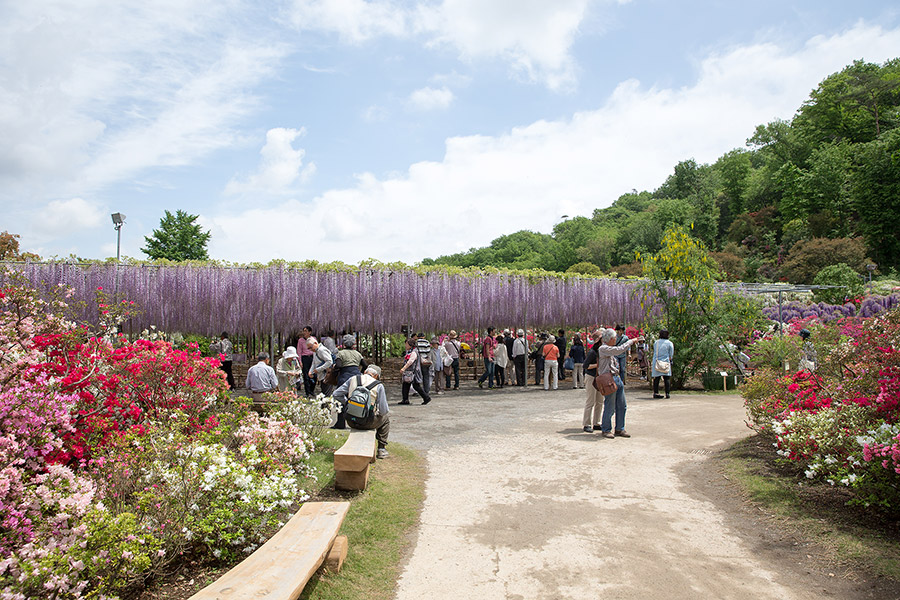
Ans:
[[[0,231],[146,258],[415,263],[550,233],[744,147],[854,60],[870,0],[0,2]]]

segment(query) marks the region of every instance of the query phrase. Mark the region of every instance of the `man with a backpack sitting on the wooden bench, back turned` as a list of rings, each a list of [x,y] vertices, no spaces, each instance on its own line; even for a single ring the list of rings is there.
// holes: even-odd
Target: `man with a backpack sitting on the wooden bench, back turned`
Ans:
[[[354,375],[338,387],[333,398],[341,404],[351,429],[375,430],[378,458],[387,458],[387,438],[391,430],[387,394],[381,379],[381,367],[369,365],[362,375]]]

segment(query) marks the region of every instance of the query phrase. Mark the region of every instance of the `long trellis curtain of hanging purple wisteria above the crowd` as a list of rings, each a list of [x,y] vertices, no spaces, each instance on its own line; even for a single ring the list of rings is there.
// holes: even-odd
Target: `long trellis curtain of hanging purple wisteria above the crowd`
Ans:
[[[38,288],[62,283],[91,300],[98,287],[118,290],[141,314],[126,327],[149,325],[202,334],[292,331],[301,325],[361,332],[427,331],[487,325],[591,326],[639,323],[635,283],[590,277],[505,272],[346,270],[212,265],[16,263]],[[90,309],[82,318],[96,318]]]

